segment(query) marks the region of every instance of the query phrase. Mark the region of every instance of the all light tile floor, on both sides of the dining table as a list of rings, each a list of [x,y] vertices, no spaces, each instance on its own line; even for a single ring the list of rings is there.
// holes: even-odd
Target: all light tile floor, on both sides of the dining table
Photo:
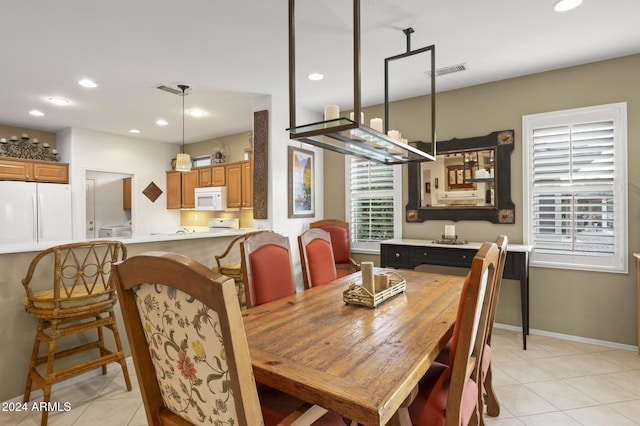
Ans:
[[[522,350],[519,332],[495,329],[494,387],[499,417],[488,426],[640,425],[640,356],[632,351],[530,335]],[[133,390],[120,370],[56,389],[68,412],[51,413],[56,426],[142,426],[144,408],[133,365]],[[36,400],[37,401],[37,400]],[[0,412],[0,426],[39,425],[40,413]]]

